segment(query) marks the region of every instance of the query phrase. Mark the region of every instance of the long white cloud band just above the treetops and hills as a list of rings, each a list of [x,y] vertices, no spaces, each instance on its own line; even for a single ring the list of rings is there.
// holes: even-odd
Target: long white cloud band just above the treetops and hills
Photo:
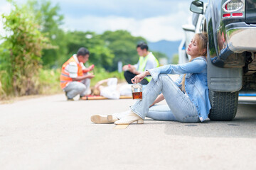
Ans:
[[[134,36],[143,36],[149,41],[181,40],[181,25],[187,22],[189,13],[180,11],[167,16],[157,16],[136,20],[120,16],[84,16],[81,18],[65,18],[67,30],[90,30],[102,33],[105,30],[128,30]]]

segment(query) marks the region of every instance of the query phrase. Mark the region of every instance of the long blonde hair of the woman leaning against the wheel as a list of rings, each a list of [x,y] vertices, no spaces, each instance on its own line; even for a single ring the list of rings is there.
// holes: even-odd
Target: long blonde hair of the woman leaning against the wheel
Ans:
[[[198,44],[198,49],[199,51],[203,51],[204,49],[206,49],[205,52],[203,52],[202,56],[207,57],[207,42],[208,42],[208,36],[206,33],[196,33],[196,35],[193,37],[193,40],[196,40],[197,44]],[[191,60],[189,61],[191,62]],[[183,75],[183,79],[181,81],[181,90],[182,91],[186,91],[185,90],[185,78],[186,74]]]

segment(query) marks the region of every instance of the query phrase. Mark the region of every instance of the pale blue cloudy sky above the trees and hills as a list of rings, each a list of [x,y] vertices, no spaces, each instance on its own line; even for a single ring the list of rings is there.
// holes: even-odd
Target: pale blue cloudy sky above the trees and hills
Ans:
[[[16,0],[26,4],[26,0]],[[181,26],[191,17],[190,0],[51,0],[60,5],[64,30],[103,33],[105,30],[128,30],[151,42],[181,40]],[[11,6],[0,0],[0,14]],[[0,34],[3,33],[0,23]]]

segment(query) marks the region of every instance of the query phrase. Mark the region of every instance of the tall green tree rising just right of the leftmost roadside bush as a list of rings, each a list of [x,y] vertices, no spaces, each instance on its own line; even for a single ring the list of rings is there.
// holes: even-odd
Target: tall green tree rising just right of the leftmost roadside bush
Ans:
[[[59,4],[52,5],[50,1],[29,0],[28,8],[33,11],[40,31],[45,33],[54,48],[43,50],[43,65],[46,67],[60,67],[61,57],[67,53],[65,33],[60,28],[64,16],[60,14]]]

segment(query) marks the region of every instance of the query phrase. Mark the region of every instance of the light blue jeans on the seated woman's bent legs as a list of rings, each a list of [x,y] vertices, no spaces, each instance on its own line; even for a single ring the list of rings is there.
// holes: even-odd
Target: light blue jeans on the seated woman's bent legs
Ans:
[[[160,93],[164,95],[168,105],[156,105],[149,108]],[[170,120],[183,123],[200,122],[196,106],[166,74],[159,74],[157,81],[152,79],[142,92],[142,100],[136,101],[130,108],[143,119],[148,117],[154,120]],[[122,118],[125,114],[127,112],[119,113],[116,116]]]

